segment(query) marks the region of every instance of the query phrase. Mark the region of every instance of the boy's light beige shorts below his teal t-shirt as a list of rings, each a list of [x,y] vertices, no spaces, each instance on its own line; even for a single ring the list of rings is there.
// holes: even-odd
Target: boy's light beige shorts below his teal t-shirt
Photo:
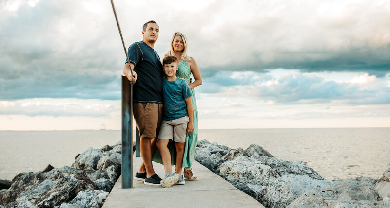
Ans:
[[[188,122],[190,122],[188,116],[169,121],[162,121],[158,139],[171,139],[177,143],[185,143]]]

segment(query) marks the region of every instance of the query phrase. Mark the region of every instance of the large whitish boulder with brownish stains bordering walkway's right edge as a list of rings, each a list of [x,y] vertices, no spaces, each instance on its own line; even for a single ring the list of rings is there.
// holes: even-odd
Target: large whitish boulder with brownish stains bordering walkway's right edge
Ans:
[[[280,176],[270,166],[247,156],[222,163],[219,175],[254,198]]]

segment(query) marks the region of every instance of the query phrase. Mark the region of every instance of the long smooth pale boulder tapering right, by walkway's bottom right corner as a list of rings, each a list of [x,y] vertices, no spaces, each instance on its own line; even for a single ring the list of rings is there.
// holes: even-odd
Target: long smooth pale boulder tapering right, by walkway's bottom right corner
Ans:
[[[261,190],[256,199],[266,207],[285,208],[308,190],[331,186],[328,180],[316,180],[307,175],[284,175]]]

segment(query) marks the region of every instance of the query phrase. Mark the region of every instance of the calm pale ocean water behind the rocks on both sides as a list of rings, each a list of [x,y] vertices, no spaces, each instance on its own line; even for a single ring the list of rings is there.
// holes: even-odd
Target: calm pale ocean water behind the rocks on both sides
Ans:
[[[0,179],[70,166],[88,147],[116,144],[121,131],[0,131]],[[258,144],[273,156],[305,161],[324,178],[380,178],[390,167],[390,128],[213,129],[207,139],[230,148]]]

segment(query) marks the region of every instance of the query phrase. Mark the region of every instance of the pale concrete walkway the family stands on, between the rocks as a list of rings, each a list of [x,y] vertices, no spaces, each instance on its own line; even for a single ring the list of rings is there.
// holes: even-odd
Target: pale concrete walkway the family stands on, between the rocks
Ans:
[[[137,173],[142,158],[133,158],[133,175]],[[164,177],[164,167],[153,162],[160,177]],[[169,188],[144,185],[133,180],[133,188],[122,189],[122,177],[102,208],[264,208],[257,200],[238,190],[225,179],[211,172],[198,162],[193,162],[195,175],[199,181],[186,180],[185,185]]]

